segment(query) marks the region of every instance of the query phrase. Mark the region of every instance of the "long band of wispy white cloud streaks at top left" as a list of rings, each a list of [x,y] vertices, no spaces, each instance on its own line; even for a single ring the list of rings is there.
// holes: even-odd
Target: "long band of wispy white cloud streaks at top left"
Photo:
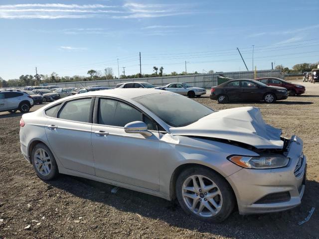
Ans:
[[[123,5],[30,3],[0,5],[4,19],[59,18],[150,18],[193,13],[190,4],[145,4],[127,2]]]

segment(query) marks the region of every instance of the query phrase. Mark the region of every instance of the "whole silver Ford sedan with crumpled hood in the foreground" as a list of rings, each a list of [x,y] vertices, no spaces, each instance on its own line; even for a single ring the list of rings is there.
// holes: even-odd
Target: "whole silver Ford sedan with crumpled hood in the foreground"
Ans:
[[[180,106],[183,106],[182,108]],[[258,108],[214,112],[181,95],[115,89],[74,95],[24,114],[20,144],[38,177],[58,173],[177,198],[207,222],[298,206],[306,156]]]

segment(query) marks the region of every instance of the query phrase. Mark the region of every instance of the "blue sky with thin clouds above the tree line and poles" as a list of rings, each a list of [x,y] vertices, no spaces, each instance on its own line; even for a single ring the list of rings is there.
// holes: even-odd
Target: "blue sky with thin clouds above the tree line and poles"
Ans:
[[[319,0],[0,0],[0,77],[292,67],[319,61]]]

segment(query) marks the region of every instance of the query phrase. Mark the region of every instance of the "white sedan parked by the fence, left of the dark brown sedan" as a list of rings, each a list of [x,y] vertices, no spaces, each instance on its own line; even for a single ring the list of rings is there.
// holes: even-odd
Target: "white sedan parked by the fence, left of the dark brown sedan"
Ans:
[[[166,86],[156,87],[155,89],[166,90],[188,97],[200,97],[206,94],[204,88],[192,87],[187,83],[170,83]]]

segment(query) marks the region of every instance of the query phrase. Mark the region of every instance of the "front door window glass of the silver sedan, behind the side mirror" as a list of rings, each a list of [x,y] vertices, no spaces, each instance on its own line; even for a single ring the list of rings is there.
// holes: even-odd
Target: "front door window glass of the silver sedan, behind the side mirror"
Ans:
[[[142,113],[119,101],[100,99],[99,124],[124,127],[133,121],[142,121]]]

